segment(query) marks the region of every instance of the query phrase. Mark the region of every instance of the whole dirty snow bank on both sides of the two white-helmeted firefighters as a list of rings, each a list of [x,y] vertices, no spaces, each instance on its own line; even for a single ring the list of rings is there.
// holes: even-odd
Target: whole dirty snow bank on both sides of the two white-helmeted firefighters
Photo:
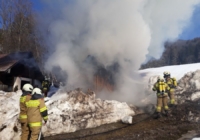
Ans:
[[[0,140],[19,140],[21,126],[19,99],[22,92],[0,92]],[[57,93],[46,98],[49,120],[43,124],[44,136],[69,133],[122,120],[135,112],[123,102],[95,99],[95,93],[81,90]]]

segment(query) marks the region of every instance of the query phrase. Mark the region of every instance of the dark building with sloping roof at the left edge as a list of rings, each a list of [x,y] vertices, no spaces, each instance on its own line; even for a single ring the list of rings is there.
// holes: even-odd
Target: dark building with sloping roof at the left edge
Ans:
[[[43,79],[31,52],[0,54],[0,90],[21,89],[25,83],[40,87]]]

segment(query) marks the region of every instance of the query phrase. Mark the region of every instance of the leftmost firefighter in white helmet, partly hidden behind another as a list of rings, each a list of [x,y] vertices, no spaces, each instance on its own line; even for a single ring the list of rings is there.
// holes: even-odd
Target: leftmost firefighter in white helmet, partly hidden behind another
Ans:
[[[25,84],[22,88],[22,95],[20,97],[20,123],[22,128],[21,140],[27,140],[29,135],[29,128],[27,124],[27,108],[25,103],[31,99],[31,92],[33,86],[31,84]]]

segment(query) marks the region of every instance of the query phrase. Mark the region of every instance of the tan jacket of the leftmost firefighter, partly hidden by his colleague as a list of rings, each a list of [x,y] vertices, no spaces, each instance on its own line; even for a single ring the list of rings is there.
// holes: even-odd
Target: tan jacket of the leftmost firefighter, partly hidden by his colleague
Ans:
[[[27,122],[27,107],[26,102],[28,102],[31,99],[31,93],[27,91],[23,91],[21,97],[20,97],[20,115],[19,120],[21,123]]]

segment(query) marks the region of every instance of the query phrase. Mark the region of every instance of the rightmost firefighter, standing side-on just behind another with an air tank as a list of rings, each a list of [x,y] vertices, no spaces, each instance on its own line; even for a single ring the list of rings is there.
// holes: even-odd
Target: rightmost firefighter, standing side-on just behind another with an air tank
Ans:
[[[171,78],[170,72],[167,72],[167,71],[164,72],[163,74],[164,74],[165,82],[170,87],[170,90],[168,92],[168,96],[170,99],[170,106],[174,106],[175,105],[174,91],[175,91],[175,88],[177,87],[176,78]]]

